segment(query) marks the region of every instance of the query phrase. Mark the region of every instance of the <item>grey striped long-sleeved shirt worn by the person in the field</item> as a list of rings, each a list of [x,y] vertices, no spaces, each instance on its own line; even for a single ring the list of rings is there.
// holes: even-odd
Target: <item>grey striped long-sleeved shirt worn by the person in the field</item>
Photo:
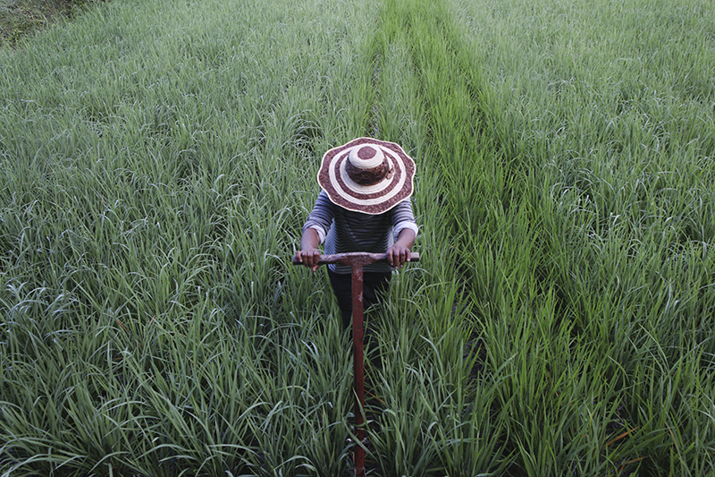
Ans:
[[[320,243],[325,243],[325,254],[328,255],[349,251],[384,253],[403,229],[408,228],[417,235],[417,224],[409,199],[402,200],[383,214],[370,215],[335,205],[325,191],[321,191],[315,200],[315,207],[307,217],[303,231],[307,228],[315,229]],[[328,267],[335,273],[351,272],[347,265],[331,264]],[[367,272],[390,270],[387,262],[376,262],[365,267]]]

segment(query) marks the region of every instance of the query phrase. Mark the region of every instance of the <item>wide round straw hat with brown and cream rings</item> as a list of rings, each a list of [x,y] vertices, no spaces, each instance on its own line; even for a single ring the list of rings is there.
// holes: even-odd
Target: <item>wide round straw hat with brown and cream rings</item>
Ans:
[[[318,183],[336,205],[382,214],[412,195],[415,161],[394,142],[357,138],[323,156]]]

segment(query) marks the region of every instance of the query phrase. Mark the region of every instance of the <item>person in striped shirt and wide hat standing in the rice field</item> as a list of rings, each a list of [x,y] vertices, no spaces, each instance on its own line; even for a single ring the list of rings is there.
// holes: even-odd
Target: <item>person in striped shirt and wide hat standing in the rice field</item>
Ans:
[[[409,197],[415,161],[393,142],[358,138],[323,156],[318,183],[323,189],[303,226],[299,262],[314,272],[325,253],[387,253],[388,262],[364,269],[366,309],[379,302],[390,285],[391,271],[409,261],[417,225]],[[338,299],[344,328],[352,316],[349,266],[331,264],[328,277]]]

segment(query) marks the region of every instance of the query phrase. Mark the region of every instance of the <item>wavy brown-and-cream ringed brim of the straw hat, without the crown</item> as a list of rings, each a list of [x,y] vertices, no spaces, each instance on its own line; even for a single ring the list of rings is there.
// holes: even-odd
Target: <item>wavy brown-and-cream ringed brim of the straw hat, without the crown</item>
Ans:
[[[392,167],[392,175],[374,185],[353,182],[345,170],[350,150],[369,144],[380,148]],[[357,138],[328,150],[318,171],[318,183],[336,205],[365,214],[382,214],[414,190],[415,161],[399,144],[372,138]]]

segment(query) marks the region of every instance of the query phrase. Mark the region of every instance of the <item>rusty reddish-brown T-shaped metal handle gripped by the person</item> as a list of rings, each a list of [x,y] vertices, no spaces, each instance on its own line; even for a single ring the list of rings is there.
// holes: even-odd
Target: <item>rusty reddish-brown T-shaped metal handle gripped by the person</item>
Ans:
[[[365,426],[363,422],[363,409],[365,408],[365,317],[363,310],[363,267],[376,261],[387,260],[387,253],[349,252],[334,255],[321,255],[318,265],[339,263],[348,265],[352,269],[352,342],[355,348],[353,353],[353,378],[355,380],[355,447],[356,477],[365,476]],[[409,261],[419,261],[419,253],[412,252]],[[293,257],[293,265],[302,265],[297,256]]]

